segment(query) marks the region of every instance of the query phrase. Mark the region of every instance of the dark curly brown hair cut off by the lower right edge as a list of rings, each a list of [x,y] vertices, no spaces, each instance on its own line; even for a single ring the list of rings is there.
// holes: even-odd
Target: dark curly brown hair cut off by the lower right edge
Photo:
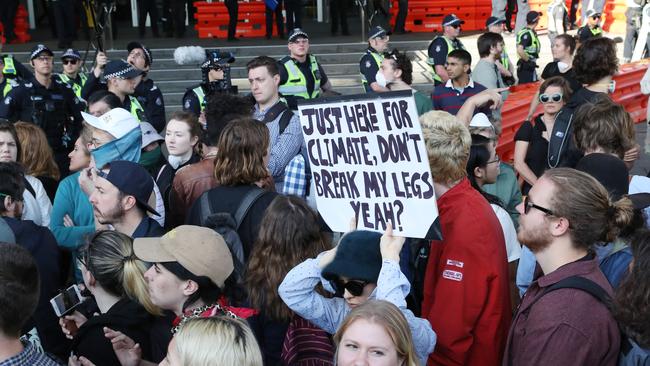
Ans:
[[[613,314],[628,337],[650,348],[650,231],[632,239],[634,263],[614,296]]]

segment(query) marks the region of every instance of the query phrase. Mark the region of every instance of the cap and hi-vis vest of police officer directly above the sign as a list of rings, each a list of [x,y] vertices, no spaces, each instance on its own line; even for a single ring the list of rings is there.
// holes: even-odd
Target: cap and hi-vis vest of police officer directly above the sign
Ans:
[[[294,29],[289,42],[299,37],[308,38],[302,30]],[[327,80],[323,67],[314,55],[307,54],[305,62],[299,62],[291,56],[280,60],[280,93],[291,109],[298,109],[298,99],[318,98],[320,89]]]

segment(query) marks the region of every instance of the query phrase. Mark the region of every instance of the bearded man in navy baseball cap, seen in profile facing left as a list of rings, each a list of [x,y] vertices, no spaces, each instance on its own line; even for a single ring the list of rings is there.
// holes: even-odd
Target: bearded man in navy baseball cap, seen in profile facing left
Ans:
[[[117,160],[104,166],[90,195],[98,230],[110,224],[132,238],[162,236],[162,227],[147,215],[149,211],[160,216],[148,203],[153,185],[147,170],[137,163]]]

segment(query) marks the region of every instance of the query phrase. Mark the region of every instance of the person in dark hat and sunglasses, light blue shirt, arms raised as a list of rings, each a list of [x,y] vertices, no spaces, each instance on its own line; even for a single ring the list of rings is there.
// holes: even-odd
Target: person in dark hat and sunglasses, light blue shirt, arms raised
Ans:
[[[278,293],[296,314],[324,331],[334,334],[352,310],[376,299],[396,305],[406,317],[418,358],[425,364],[436,344],[436,334],[426,319],[406,308],[410,285],[400,271],[400,251],[405,239],[393,236],[392,227],[379,233],[355,230],[345,234],[339,245],[307,259],[284,278]],[[316,286],[336,297],[325,298]]]

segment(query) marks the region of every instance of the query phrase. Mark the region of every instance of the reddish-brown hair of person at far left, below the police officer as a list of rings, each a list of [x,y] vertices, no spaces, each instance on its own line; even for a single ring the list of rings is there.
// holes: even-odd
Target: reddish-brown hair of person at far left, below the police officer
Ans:
[[[60,178],[59,166],[54,161],[54,152],[47,142],[45,132],[33,123],[16,122],[16,134],[23,147],[19,163],[25,172],[35,177]]]

